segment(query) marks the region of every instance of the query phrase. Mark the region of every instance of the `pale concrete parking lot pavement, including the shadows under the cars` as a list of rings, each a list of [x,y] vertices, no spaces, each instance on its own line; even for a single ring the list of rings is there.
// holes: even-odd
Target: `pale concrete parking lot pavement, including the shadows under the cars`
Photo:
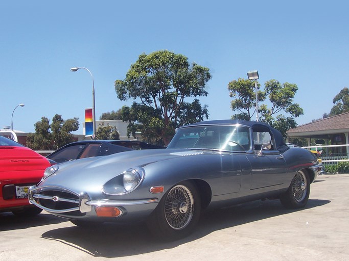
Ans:
[[[83,229],[43,212],[0,213],[0,260],[349,260],[349,175],[321,175],[306,208],[255,201],[205,213],[189,238],[158,242],[142,224]]]

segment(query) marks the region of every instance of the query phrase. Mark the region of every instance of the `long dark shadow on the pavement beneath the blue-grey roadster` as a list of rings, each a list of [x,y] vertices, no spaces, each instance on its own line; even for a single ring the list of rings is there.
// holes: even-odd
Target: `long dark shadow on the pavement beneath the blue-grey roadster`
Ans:
[[[214,231],[302,211],[330,202],[309,199],[306,208],[300,210],[286,210],[278,200],[254,201],[220,208],[203,213],[198,226],[189,237],[172,242],[156,240],[143,223],[127,225],[104,223],[93,228],[72,224],[71,227],[47,231],[42,234],[42,238],[61,242],[91,256],[108,258],[132,256],[175,248],[205,237]]]

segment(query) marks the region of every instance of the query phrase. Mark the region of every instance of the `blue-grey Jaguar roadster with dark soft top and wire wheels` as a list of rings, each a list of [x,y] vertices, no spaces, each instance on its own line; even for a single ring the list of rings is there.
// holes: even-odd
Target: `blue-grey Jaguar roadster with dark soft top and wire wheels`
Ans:
[[[178,239],[207,208],[268,198],[304,207],[321,166],[266,123],[206,121],[178,128],[166,149],[51,166],[29,200],[76,225],[144,220],[157,237]]]

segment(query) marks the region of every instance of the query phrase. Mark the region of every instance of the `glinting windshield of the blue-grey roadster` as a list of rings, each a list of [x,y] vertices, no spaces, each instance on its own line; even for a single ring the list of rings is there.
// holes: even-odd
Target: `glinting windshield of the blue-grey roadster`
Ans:
[[[251,147],[249,128],[239,125],[195,126],[178,129],[168,148],[246,151]]]

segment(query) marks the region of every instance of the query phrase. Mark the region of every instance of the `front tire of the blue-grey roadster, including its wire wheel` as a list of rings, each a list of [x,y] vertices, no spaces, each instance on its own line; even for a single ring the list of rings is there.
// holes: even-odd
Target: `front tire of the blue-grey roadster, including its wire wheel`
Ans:
[[[193,231],[200,212],[201,199],[196,186],[182,181],[161,198],[147,225],[157,239],[177,240]]]

